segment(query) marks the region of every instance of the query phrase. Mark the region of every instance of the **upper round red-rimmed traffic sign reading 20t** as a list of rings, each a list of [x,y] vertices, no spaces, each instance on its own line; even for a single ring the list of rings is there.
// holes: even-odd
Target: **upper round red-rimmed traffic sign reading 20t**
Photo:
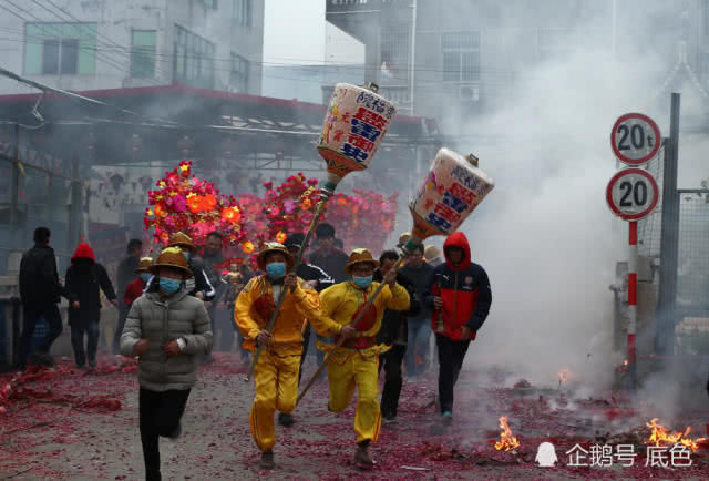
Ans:
[[[613,125],[610,147],[616,157],[628,165],[641,165],[660,150],[660,129],[641,113],[621,115]]]

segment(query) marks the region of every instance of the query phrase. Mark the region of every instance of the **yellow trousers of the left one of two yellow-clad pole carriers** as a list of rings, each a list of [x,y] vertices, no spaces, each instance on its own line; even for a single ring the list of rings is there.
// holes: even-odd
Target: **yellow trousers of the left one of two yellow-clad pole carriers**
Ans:
[[[256,398],[249,423],[254,441],[263,452],[270,451],[276,443],[276,410],[289,415],[296,408],[299,370],[300,355],[279,356],[264,349],[258,358],[254,369]]]

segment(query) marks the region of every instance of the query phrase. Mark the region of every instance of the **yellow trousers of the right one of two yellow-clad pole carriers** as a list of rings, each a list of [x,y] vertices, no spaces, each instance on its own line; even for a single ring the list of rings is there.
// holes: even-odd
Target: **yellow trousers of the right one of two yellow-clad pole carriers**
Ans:
[[[379,408],[379,355],[353,349],[338,349],[330,354],[330,410],[341,412],[352,400],[357,387],[354,432],[357,442],[377,442],[381,428]]]

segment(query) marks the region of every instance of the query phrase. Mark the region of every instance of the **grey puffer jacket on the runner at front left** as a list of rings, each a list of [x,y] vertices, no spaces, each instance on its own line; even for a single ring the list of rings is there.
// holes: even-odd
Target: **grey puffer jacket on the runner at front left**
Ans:
[[[182,338],[186,346],[167,357],[165,342]],[[199,356],[212,347],[209,315],[204,303],[182,289],[161,300],[160,293],[145,293],[131,306],[121,335],[121,354],[133,357],[135,345],[148,339],[138,360],[138,381],[151,391],[191,389],[195,385]]]

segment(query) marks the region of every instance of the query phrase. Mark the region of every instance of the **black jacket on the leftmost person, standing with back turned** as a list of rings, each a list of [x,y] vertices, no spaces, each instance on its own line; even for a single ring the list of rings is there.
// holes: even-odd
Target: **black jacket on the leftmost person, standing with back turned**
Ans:
[[[59,282],[54,249],[35,245],[20,262],[20,298],[27,306],[51,306],[60,296],[74,300],[74,295]]]

